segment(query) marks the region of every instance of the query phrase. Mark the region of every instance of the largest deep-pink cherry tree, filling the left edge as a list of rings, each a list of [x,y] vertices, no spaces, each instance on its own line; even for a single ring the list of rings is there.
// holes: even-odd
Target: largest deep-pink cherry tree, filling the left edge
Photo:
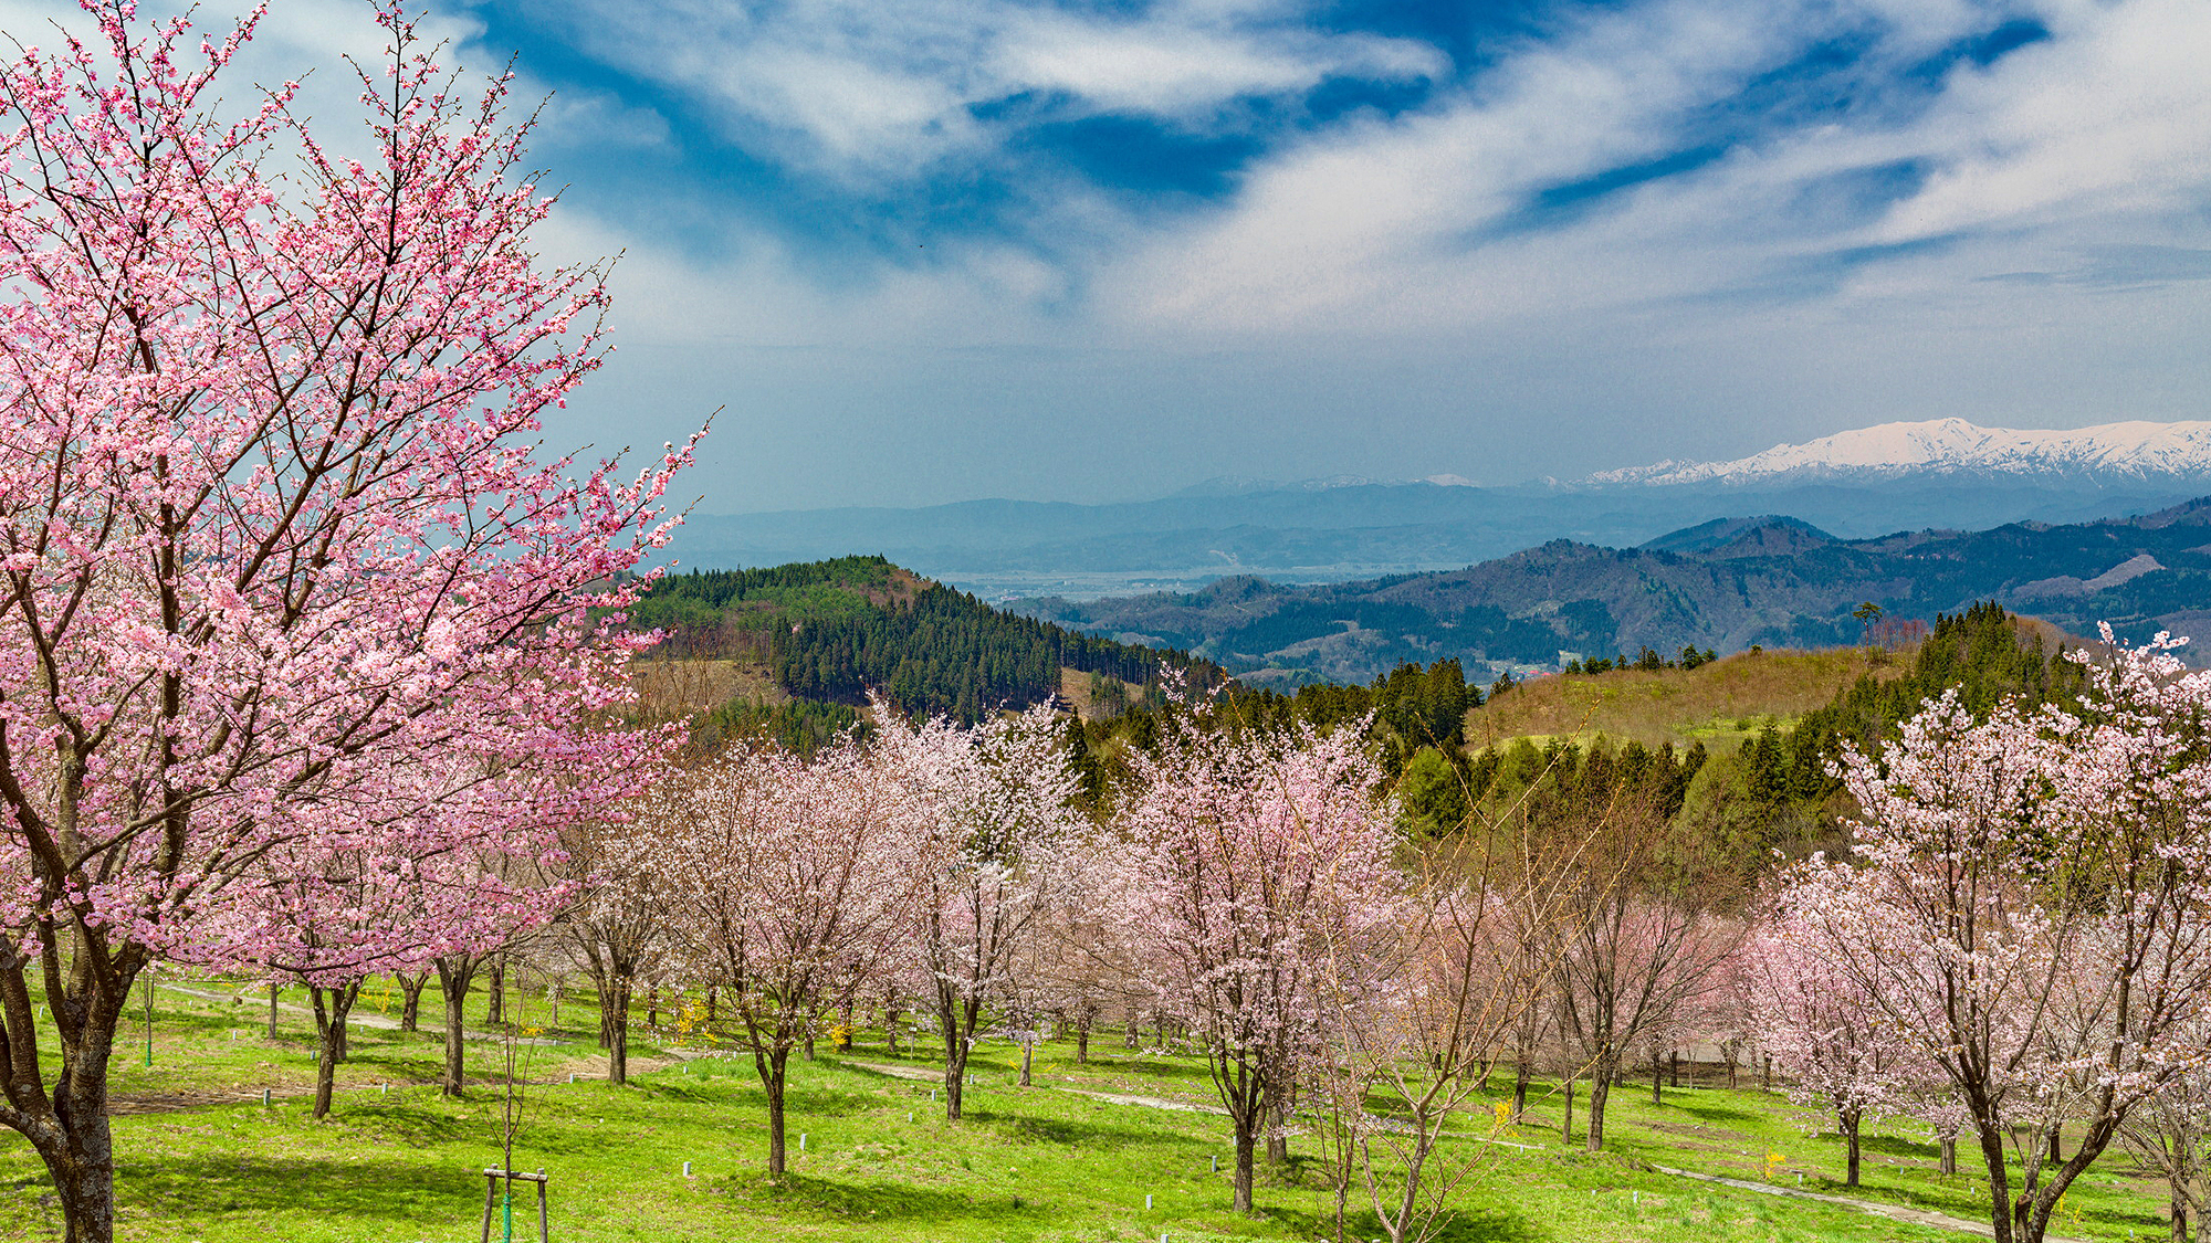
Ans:
[[[657,754],[588,725],[648,641],[593,608],[685,451],[535,456],[606,290],[533,257],[504,80],[455,93],[385,9],[343,159],[292,86],[219,119],[252,20],[84,9],[0,66],[0,1124],[106,1243],[124,997],[221,958],[263,858],[407,858],[425,807],[528,854]]]

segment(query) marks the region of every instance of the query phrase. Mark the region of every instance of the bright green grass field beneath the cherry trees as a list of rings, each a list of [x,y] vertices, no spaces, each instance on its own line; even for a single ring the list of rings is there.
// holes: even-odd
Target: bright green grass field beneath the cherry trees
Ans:
[[[290,1000],[298,1000],[292,995]],[[436,1006],[425,997],[425,1024]],[[374,993],[363,1009],[376,1013]],[[398,1013],[396,997],[387,1004]],[[517,1006],[544,1026],[544,995]],[[139,1013],[139,1011],[135,1011]],[[338,1108],[307,1117],[312,1088],[307,1020],[283,1015],[290,1040],[268,1042],[265,1009],[159,993],[155,1064],[144,1044],[119,1051],[115,1119],[126,1239],[164,1241],[460,1241],[475,1239],[484,1179],[497,1163],[504,1051],[471,1044],[471,1070],[486,1079],[467,1099],[427,1086],[438,1068],[433,1033],[360,1028],[343,1068]],[[471,1017],[482,1017],[471,1000]],[[1015,1086],[1017,1048],[975,1051],[968,1117],[942,1119],[926,1082],[867,1064],[893,1059],[878,1033],[842,1057],[794,1068],[792,1174],[772,1185],[761,1172],[765,1115],[750,1059],[668,1057],[641,1046],[628,1088],[604,1070],[579,1000],[562,1006],[548,1035],[562,1046],[520,1048],[522,1132],[515,1168],[551,1174],[551,1223],[559,1241],[856,1239],[856,1241],[1152,1241],[1333,1236],[1318,1148],[1293,1139],[1291,1166],[1262,1174],[1260,1216],[1229,1212],[1227,1121],[1205,1113],[1110,1104],[1066,1088],[1205,1104],[1203,1064],[1092,1042],[1077,1066],[1070,1042],[1039,1051],[1037,1086]],[[137,1037],[142,1040],[142,1037]],[[579,1082],[568,1084],[568,1075]],[[1709,1073],[1709,1068],[1707,1068]],[[389,1088],[385,1088],[389,1084]],[[261,1088],[274,1106],[259,1104]],[[1501,1084],[1499,1084],[1501,1086]],[[1548,1086],[1545,1086],[1548,1088]],[[1756,1088],[1669,1088],[1652,1106],[1649,1084],[1625,1084],[1610,1113],[1612,1150],[1585,1155],[1559,1143],[1559,1099],[1543,1095],[1526,1126],[1499,1139],[1466,1139],[1481,1168],[1457,1199],[1444,1239],[1534,1241],[1842,1241],[1966,1239],[1846,1208],[1696,1183],[1652,1170],[1676,1166],[1840,1192],[1842,1150],[1809,1135],[1811,1121]],[[1576,1119],[1576,1130],[1581,1119]],[[1488,1132],[1488,1113],[1468,1132]],[[796,1150],[805,1132],[805,1152]],[[1780,1157],[1773,1161],[1771,1157]],[[1908,1128],[1868,1143],[1862,1199],[1981,1216],[1977,1177],[1935,1172],[1935,1148]],[[683,1177],[683,1163],[692,1177]],[[57,1239],[44,1170],[29,1146],[0,1132],[0,1236]],[[522,1188],[528,1190],[528,1188]],[[1152,1208],[1145,1210],[1145,1197]],[[2065,1205],[2061,1230],[2076,1239],[2158,1239],[2162,1188],[2131,1161],[2107,1155],[2100,1172]],[[1353,1234],[1380,1232],[1371,1216]],[[497,1239],[497,1228],[493,1230]],[[535,1201],[517,1197],[515,1236],[535,1239]]]

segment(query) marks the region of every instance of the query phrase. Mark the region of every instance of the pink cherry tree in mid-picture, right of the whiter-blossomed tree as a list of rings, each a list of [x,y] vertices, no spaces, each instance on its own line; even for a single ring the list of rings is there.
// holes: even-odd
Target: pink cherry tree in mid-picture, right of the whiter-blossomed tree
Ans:
[[[1196,706],[1119,816],[1123,927],[1156,1006],[1205,1051],[1236,1132],[1236,1210],[1324,1037],[1331,964],[1389,925],[1395,807],[1360,728],[1258,734]],[[1340,980],[1335,980],[1340,984]]]

